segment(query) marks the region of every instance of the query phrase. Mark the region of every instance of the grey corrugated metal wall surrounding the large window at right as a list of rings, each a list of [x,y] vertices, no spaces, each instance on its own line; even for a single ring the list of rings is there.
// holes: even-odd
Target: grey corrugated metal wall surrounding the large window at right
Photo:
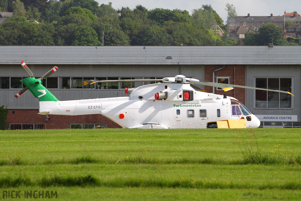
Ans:
[[[301,65],[246,65],[246,85],[255,87],[256,77],[291,77],[292,108],[255,108],[255,90],[246,90],[246,106],[255,115],[298,115],[300,121],[300,75]]]

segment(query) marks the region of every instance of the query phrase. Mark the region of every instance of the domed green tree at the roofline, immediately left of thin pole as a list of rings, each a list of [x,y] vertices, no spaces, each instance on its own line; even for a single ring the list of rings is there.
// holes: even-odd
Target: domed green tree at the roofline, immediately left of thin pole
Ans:
[[[79,26],[74,33],[73,46],[99,46],[98,36],[92,27]]]

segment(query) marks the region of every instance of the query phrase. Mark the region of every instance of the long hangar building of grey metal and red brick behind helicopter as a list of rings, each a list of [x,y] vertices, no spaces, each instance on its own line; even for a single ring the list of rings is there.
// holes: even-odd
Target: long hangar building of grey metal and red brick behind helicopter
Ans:
[[[31,93],[19,99],[20,80],[35,77],[54,66],[58,71],[43,84],[59,100],[126,96],[124,88],[149,82],[101,83],[118,80],[173,77],[182,74],[201,81],[287,90],[295,96],[235,88],[226,92],[249,108],[262,127],[301,127],[301,46],[0,46],[0,106],[8,108],[8,129],[62,129],[120,126],[102,115],[38,115],[39,103]],[[218,88],[201,86],[209,93]]]

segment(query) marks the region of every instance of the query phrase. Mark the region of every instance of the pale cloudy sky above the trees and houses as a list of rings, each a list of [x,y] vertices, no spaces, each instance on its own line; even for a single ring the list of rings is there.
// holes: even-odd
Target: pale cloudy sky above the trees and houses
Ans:
[[[136,5],[142,5],[148,10],[154,8],[164,8],[164,9],[180,9],[186,10],[189,14],[192,14],[193,9],[201,8],[202,5],[211,4],[213,10],[219,14],[219,16],[225,21],[227,20],[227,11],[225,10],[226,4],[233,4],[237,12],[237,16],[247,16],[250,13],[250,16],[270,16],[273,13],[274,16],[283,15],[284,11],[291,13],[297,11],[298,14],[301,14],[301,10],[297,10],[296,4],[294,3],[285,3],[283,0],[253,0],[253,1],[241,1],[241,0],[95,0],[101,4],[108,4],[112,2],[112,7],[121,9],[122,7],[129,7],[134,9]],[[300,7],[301,8],[301,7]]]

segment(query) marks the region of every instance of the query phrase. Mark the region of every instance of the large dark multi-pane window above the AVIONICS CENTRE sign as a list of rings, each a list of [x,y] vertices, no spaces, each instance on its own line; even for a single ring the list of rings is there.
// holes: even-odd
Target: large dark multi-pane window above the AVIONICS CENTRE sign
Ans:
[[[292,93],[292,78],[255,78],[256,87]],[[265,90],[255,90],[256,108],[292,108],[292,95]]]

